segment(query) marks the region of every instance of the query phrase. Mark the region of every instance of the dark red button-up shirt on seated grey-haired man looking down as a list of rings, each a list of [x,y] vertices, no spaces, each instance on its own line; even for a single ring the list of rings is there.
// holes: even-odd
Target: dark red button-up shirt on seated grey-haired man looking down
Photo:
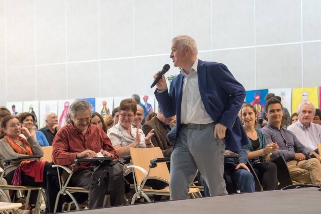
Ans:
[[[96,153],[101,149],[108,151],[112,157],[119,158],[116,150],[112,147],[111,141],[104,131],[89,124],[87,132],[83,135],[78,132],[73,124],[66,125],[58,130],[52,143],[52,160],[55,164],[68,166],[71,169],[77,158],[77,153],[90,149]],[[74,171],[87,169],[91,163],[83,163],[76,167]]]

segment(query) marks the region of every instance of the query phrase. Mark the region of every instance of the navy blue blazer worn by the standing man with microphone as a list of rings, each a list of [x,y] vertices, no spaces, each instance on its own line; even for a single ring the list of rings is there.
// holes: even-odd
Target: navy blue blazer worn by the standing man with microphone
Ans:
[[[244,87],[221,63],[199,60],[197,76],[205,110],[215,123],[227,127],[226,148],[238,151],[242,145],[248,144],[247,135],[237,116],[245,99]],[[182,88],[183,75],[179,74],[172,80],[169,91],[166,90],[162,93],[155,91],[164,116],[176,115],[177,133],[181,129]]]

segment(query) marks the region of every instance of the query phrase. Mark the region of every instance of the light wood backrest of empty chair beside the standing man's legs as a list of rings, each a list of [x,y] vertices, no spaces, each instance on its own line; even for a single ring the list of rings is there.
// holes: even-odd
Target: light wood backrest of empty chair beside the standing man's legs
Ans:
[[[149,171],[150,160],[155,158],[163,158],[161,148],[130,148],[130,155],[133,165],[140,166],[146,171]],[[145,175],[135,170],[135,177],[137,184],[141,184],[145,178]],[[150,169],[148,179],[156,179],[164,182],[170,182],[170,172],[167,168],[166,162],[157,163],[157,167]]]

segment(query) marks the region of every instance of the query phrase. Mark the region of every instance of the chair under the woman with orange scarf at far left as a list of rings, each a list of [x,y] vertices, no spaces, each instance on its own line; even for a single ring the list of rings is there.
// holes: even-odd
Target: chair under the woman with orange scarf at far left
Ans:
[[[3,163],[4,163],[3,165],[4,165],[5,169],[0,170],[0,171],[2,171],[1,175],[0,175],[0,179],[5,177],[6,167],[10,164],[11,161],[15,161],[15,162],[18,161],[19,162],[19,161],[23,161],[23,160],[40,159],[41,157],[42,157],[41,155],[33,155],[33,156],[12,157],[12,158],[3,159]],[[27,195],[25,196],[25,207],[24,207],[25,210],[28,209],[31,191],[37,190],[38,196],[37,196],[37,202],[36,202],[36,206],[35,206],[35,213],[37,213],[39,210],[39,202],[41,199],[41,195],[43,195],[44,198],[46,198],[45,192],[41,187],[0,185],[0,190],[1,191],[3,191],[3,190],[27,191]]]

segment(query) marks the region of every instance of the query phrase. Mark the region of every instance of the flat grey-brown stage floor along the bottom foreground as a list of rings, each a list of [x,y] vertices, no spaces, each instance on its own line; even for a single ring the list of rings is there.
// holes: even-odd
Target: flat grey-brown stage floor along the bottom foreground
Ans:
[[[81,211],[86,213],[321,213],[321,191],[276,190]]]

